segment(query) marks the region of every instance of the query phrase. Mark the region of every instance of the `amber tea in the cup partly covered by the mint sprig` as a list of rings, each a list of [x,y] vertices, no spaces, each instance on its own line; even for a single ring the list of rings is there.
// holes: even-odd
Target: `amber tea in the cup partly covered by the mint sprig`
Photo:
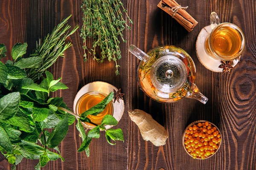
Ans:
[[[97,92],[97,91],[92,91],[84,94],[83,96],[80,97],[80,99],[77,102],[77,109],[79,115],[83,113],[84,111],[87,111],[88,109],[92,108],[93,106],[97,105],[99,102],[101,102],[103,99],[105,99],[107,95]],[[113,104],[112,102],[109,102],[108,105],[106,106],[105,110],[99,113],[97,116],[89,115],[87,116],[91,122],[100,125],[102,122],[102,119],[106,115],[113,115]],[[87,125],[92,125],[91,123],[84,122]]]

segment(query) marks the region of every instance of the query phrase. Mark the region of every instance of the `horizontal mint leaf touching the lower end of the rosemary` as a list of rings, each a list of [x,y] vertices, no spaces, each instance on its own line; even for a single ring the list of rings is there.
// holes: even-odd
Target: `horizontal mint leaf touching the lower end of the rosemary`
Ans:
[[[15,66],[19,68],[38,68],[43,60],[40,57],[22,58],[18,62],[15,62]]]

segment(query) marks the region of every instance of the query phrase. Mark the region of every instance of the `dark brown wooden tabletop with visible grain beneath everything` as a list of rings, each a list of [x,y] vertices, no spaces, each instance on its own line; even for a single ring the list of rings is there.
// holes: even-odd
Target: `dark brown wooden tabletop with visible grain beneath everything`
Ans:
[[[255,0],[177,0],[197,21],[192,32],[187,32],[171,16],[157,7],[159,0],[122,0],[134,24],[125,31],[127,43],[121,43],[120,75],[114,74],[114,63],[99,64],[89,58],[83,62],[80,29],[68,40],[73,46],[65,58],[50,68],[54,77],[62,77],[69,89],[55,94],[62,96],[70,109],[79,89],[93,81],[104,81],[121,88],[125,93],[125,112],[118,127],[124,132],[125,142],[109,145],[102,135],[90,144],[87,158],[76,150],[81,144],[75,125],[61,143],[65,158],[52,161],[44,170],[255,170],[256,169],[256,3]],[[16,42],[28,43],[32,53],[36,41],[44,38],[61,20],[74,27],[82,25],[81,0],[0,0],[0,43],[10,51]],[[207,70],[198,60],[195,41],[200,30],[210,24],[209,15],[216,11],[222,22],[239,26],[246,38],[246,52],[231,74]],[[209,98],[206,105],[193,100],[162,104],[149,99],[140,90],[136,78],[139,60],[128,53],[134,44],[144,51],[159,45],[176,45],[187,51],[197,68],[196,84]],[[3,59],[5,62],[6,59]],[[128,110],[139,108],[150,113],[169,133],[166,145],[155,147],[145,142]],[[218,153],[206,160],[192,159],[182,147],[182,133],[196,120],[207,120],[219,127],[223,141]],[[18,170],[31,170],[37,161],[23,160]],[[1,170],[9,170],[9,163],[0,162]]]

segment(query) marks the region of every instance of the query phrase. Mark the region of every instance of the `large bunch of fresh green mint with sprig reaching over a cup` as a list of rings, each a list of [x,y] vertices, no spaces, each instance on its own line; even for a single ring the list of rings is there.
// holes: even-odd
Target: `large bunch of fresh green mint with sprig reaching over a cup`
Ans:
[[[51,97],[51,92],[67,89],[60,82],[61,78],[54,80],[48,71],[44,71],[46,77],[40,83],[29,78],[27,69],[36,70],[43,61],[40,57],[23,58],[26,48],[26,43],[15,44],[12,48],[13,61],[0,62],[0,152],[13,164],[13,170],[23,158],[39,159],[35,169],[40,170],[48,161],[59,158],[64,161],[58,144],[66,136],[68,126],[75,122],[75,116],[61,97]],[[0,59],[5,56],[6,47],[0,44]],[[116,119],[111,115],[105,116],[101,125],[96,125],[88,133],[81,124],[90,122],[87,116],[101,113],[112,99],[113,92],[98,105],[80,116],[76,115],[76,127],[83,141],[79,152],[85,150],[89,156],[91,139],[99,138],[100,130],[105,131],[110,144],[113,144],[111,139],[123,141],[121,129],[105,128],[105,125],[117,125]]]

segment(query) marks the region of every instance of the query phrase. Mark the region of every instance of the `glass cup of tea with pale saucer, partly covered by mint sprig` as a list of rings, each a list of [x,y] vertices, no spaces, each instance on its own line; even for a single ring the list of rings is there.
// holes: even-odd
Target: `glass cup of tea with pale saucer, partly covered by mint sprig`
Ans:
[[[84,85],[84,87],[82,87],[76,94],[76,97],[74,99],[74,113],[76,115],[80,115],[84,111],[89,110],[90,108],[101,102],[103,99],[105,99],[105,97],[108,96],[108,94],[110,94],[112,91],[118,92],[119,90],[115,86],[107,82],[98,81]],[[82,122],[82,125],[87,129],[93,129],[96,125],[101,124],[102,119],[106,115],[113,116],[117,120],[117,122],[119,122],[124,113],[124,107],[124,100],[119,99],[119,101],[116,101],[115,99],[113,99],[98,115],[87,116],[87,118],[89,118],[92,123]],[[111,127],[111,125],[105,126],[106,129],[109,129]]]

